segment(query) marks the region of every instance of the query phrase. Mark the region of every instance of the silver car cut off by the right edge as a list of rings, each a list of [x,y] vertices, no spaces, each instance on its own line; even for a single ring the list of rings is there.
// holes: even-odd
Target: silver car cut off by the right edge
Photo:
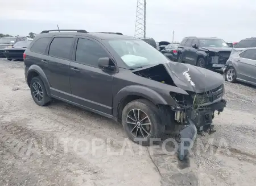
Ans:
[[[256,48],[232,49],[223,71],[226,81],[256,85]]]

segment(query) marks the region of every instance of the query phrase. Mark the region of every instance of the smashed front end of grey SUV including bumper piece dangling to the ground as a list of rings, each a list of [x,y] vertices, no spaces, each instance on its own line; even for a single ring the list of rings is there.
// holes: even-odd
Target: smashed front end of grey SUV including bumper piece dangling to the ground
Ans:
[[[179,130],[179,159],[183,160],[188,154],[188,148],[192,147],[196,134],[208,132],[214,133],[212,121],[214,114],[224,111],[226,101],[223,97],[224,85],[203,93],[189,92],[189,95],[172,93],[171,96],[178,106],[170,106],[174,113],[175,125],[182,126]],[[173,125],[173,124],[172,124]],[[182,142],[183,141],[183,142]]]

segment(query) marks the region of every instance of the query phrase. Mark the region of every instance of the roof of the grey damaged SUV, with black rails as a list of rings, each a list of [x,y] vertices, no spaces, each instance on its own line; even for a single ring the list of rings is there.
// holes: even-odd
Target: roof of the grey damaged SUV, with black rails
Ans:
[[[104,32],[76,32],[76,31],[65,31],[65,32],[46,32],[37,34],[36,37],[52,37],[54,35],[78,35],[78,36],[95,36],[98,39],[137,39],[131,36],[120,35],[120,34],[109,34]]]

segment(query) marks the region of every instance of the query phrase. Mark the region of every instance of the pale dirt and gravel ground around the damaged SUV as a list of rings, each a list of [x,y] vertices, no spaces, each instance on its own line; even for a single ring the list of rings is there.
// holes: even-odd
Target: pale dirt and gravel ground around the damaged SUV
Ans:
[[[23,62],[0,59],[0,90],[0,185],[255,185],[252,86],[225,82],[217,132],[197,137],[184,162],[171,144],[130,142],[111,119],[59,101],[37,106]]]

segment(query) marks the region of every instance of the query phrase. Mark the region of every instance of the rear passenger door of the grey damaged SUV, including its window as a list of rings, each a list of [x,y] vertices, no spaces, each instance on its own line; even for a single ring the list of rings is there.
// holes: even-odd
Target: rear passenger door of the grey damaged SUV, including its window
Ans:
[[[69,84],[69,64],[75,36],[55,35],[47,48],[48,56],[42,60],[47,66],[47,77],[51,86],[51,93],[61,98],[69,98],[71,93]]]

